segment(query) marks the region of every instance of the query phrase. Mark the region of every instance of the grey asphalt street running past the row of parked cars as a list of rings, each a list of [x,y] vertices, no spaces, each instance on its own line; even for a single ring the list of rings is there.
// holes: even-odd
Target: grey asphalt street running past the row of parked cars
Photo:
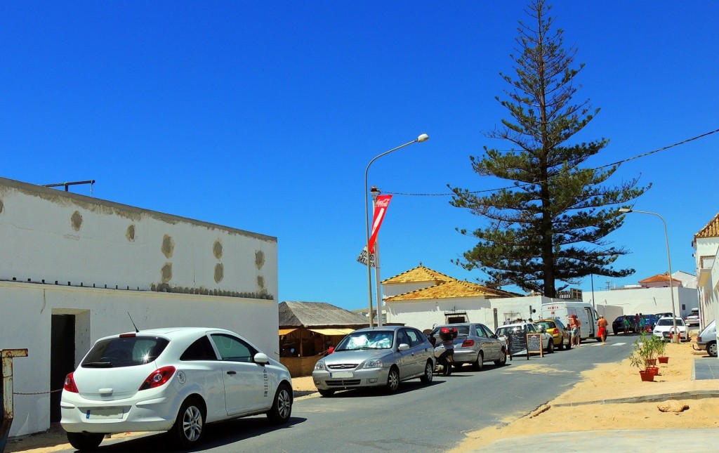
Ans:
[[[544,357],[516,357],[504,367],[485,364],[481,372],[465,367],[449,377],[435,376],[431,385],[407,381],[393,395],[351,390],[303,399],[284,426],[270,426],[265,416],[207,426],[195,451],[444,452],[462,441],[464,432],[501,424],[564,393],[580,380],[580,372],[623,360],[634,339],[611,335],[604,346],[588,341]],[[99,451],[155,453],[170,451],[167,446],[164,434],[152,434],[104,441]]]

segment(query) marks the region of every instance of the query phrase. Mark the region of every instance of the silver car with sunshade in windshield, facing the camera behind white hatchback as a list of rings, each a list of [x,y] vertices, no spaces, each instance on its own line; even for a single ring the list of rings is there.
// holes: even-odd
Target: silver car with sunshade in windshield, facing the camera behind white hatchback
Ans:
[[[336,390],[384,387],[395,392],[403,380],[432,382],[434,348],[426,335],[406,326],[359,329],[344,337],[312,372],[320,395]]]

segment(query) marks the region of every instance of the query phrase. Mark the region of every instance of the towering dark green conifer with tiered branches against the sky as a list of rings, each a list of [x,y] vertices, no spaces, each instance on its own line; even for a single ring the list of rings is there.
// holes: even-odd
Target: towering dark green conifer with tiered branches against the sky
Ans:
[[[584,65],[573,67],[577,50],[563,47],[562,29],[552,31],[550,9],[544,0],[528,5],[531,25],[519,22],[519,55],[511,55],[516,75],[500,73],[511,88],[505,90],[506,99],[497,100],[511,119],[485,135],[510,142],[510,150],[485,147],[485,155],[470,157],[478,175],[513,181],[512,187],[487,196],[452,188],[451,203],[488,220],[473,232],[459,229],[479,242],[457,264],[482,270],[487,285],[517,285],[556,297],[557,281],[569,285],[590,274],[634,272],[611,266],[628,251],[611,247],[605,237],[622,224],[616,205],[649,186],[639,187],[637,179],[604,186],[617,166],[580,167],[608,140],[569,143],[599,109],[593,110],[588,100],[573,103],[575,78]]]

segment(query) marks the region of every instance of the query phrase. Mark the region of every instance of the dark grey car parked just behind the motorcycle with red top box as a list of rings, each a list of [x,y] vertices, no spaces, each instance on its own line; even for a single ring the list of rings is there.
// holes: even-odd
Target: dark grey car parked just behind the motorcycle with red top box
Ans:
[[[469,363],[473,370],[479,371],[482,370],[484,362],[494,362],[495,365],[504,365],[507,362],[505,342],[498,339],[484,324],[443,324],[432,329],[429,335],[438,338],[439,329],[442,327],[457,329],[457,338],[454,339],[454,366],[461,367]]]

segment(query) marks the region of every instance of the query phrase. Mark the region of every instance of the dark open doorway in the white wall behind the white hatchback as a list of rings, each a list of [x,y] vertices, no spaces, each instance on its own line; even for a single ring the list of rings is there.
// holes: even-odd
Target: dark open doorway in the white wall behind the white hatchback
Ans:
[[[75,315],[52,315],[50,331],[50,390],[63,388],[75,370]],[[50,393],[50,423],[60,421],[60,393]]]

